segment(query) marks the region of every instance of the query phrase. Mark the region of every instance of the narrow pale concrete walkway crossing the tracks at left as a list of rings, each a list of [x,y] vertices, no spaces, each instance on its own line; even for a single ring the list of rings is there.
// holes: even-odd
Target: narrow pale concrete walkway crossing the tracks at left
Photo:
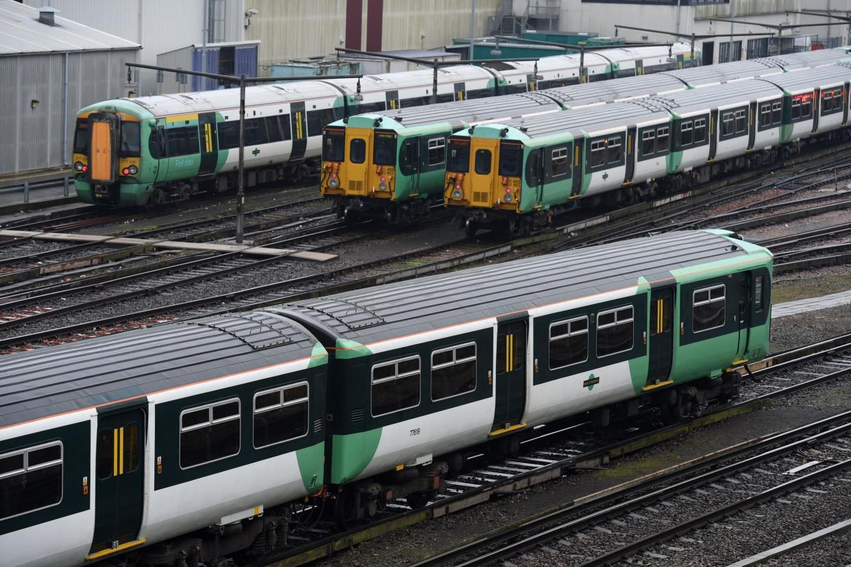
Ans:
[[[315,262],[328,262],[337,258],[336,254],[324,252],[306,252],[291,248],[253,247],[245,244],[215,244],[214,242],[157,241],[146,238],[124,238],[100,235],[74,235],[61,232],[38,232],[37,230],[0,230],[0,236],[9,238],[35,238],[42,241],[60,242],[103,242],[116,246],[147,246],[170,250],[198,250],[203,252],[243,252],[254,256],[290,256]]]

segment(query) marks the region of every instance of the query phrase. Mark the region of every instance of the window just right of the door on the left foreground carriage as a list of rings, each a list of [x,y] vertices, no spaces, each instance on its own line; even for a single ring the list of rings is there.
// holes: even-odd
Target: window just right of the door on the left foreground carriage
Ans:
[[[239,400],[180,413],[180,468],[218,461],[239,452]]]

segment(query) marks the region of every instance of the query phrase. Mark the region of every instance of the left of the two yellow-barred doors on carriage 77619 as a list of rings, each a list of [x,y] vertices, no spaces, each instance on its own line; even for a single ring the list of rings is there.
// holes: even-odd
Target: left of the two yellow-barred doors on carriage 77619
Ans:
[[[526,316],[506,320],[496,330],[496,405],[492,434],[523,427],[526,408]]]

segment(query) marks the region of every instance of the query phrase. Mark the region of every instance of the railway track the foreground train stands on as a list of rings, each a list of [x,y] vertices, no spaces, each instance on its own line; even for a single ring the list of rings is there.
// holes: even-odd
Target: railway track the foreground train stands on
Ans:
[[[614,440],[611,431],[593,434],[589,430],[590,423],[583,419],[553,423],[540,428],[534,439],[524,441],[523,451],[516,456],[474,454],[468,459],[465,471],[447,479],[447,494],[422,509],[411,509],[402,501],[393,502],[374,521],[330,535],[325,535],[325,532],[333,531],[331,524],[314,521],[311,524],[315,530],[299,531],[296,528],[294,539],[291,539],[297,544],[295,547],[276,553],[252,567],[306,564],[399,527],[439,518],[487,502],[495,496],[560,479],[577,468],[601,466],[612,458],[672,439],[690,429],[768,405],[775,397],[847,376],[851,374],[851,333],[776,354],[757,366],[741,369],[745,380],[740,400],[734,404],[709,406],[700,416],[662,428],[656,425],[655,420],[633,421],[630,432],[622,432]],[[845,427],[851,428],[851,412],[847,414],[846,421],[849,425]],[[632,427],[637,427],[637,432]],[[483,547],[492,543],[483,543]],[[470,549],[465,547],[460,551],[463,553],[459,557]],[[433,559],[434,563],[426,562],[424,565],[443,564],[448,558],[440,555]]]

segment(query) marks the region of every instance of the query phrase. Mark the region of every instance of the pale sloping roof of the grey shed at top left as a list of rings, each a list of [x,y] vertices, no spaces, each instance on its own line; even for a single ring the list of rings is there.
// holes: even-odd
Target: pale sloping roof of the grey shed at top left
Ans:
[[[45,11],[49,15],[57,13],[54,9]],[[65,18],[54,17],[54,25],[50,26],[39,21],[38,9],[14,0],[0,0],[0,56],[140,47]]]

